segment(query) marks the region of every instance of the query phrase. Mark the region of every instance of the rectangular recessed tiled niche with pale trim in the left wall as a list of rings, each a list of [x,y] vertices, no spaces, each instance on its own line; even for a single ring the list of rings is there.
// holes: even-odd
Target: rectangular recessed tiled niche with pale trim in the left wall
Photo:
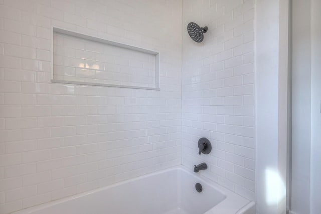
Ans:
[[[52,82],[159,90],[159,53],[53,28]]]

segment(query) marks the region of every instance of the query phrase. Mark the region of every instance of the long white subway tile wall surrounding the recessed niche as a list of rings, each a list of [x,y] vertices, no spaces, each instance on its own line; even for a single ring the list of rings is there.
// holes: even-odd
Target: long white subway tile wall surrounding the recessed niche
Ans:
[[[161,53],[162,90],[51,83],[52,26]],[[181,163],[181,26],[181,0],[0,0],[0,213]]]

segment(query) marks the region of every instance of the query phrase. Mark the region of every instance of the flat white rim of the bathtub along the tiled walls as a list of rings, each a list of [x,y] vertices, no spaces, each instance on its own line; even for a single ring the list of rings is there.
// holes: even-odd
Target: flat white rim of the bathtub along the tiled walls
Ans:
[[[64,197],[61,199],[57,199],[57,200],[53,200],[50,202],[46,202],[43,204],[39,204],[39,205],[35,205],[32,207],[28,207],[25,209],[21,209],[18,210],[16,212],[12,212],[11,214],[28,214],[28,213],[32,213],[35,211],[39,211],[41,209],[45,209],[60,203],[64,203],[70,200],[75,200],[77,198],[80,197],[84,197],[90,194],[94,194],[96,192],[100,192],[103,190],[107,190],[109,188],[113,188],[113,187],[117,187],[120,186],[122,184],[127,184],[127,183],[132,183],[136,180],[142,179],[142,178],[148,178],[157,174],[162,174],[165,172],[169,172],[169,171],[184,171],[186,173],[188,173],[190,176],[200,180],[200,182],[204,182],[207,185],[211,186],[212,188],[214,188],[216,191],[218,191],[219,193],[221,193],[222,195],[224,195],[224,199],[219,202],[218,204],[216,204],[214,207],[212,207],[210,210],[206,211],[204,214],[212,214],[212,213],[221,213],[222,211],[224,211],[225,214],[235,214],[235,213],[239,213],[238,211],[240,211],[243,207],[247,206],[250,203],[254,203],[253,201],[250,201],[234,192],[232,192],[231,190],[215,183],[214,181],[202,176],[202,173],[194,173],[193,171],[191,171],[190,169],[188,169],[186,166],[183,165],[177,165],[177,166],[173,166],[170,168],[166,168],[166,169],[162,169],[159,171],[155,171],[155,172],[151,172],[145,175],[141,175],[139,177],[135,177],[135,178],[131,178],[129,180],[124,180],[124,181],[120,181],[108,186],[104,186],[104,187],[100,187],[97,189],[93,189],[87,192],[82,192],[76,195],[72,195],[72,196],[68,196],[68,197]],[[255,204],[255,203],[254,203]],[[232,205],[232,207],[231,207]],[[226,209],[227,207],[229,207],[228,209]],[[243,213],[243,212],[242,212]]]

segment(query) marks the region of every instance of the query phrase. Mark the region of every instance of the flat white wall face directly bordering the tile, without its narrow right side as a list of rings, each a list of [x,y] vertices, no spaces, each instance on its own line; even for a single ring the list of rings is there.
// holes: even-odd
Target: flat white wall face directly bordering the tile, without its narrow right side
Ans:
[[[278,1],[256,1],[256,203],[257,213],[276,213],[267,178],[277,175],[278,148]],[[270,191],[271,190],[271,191]]]

